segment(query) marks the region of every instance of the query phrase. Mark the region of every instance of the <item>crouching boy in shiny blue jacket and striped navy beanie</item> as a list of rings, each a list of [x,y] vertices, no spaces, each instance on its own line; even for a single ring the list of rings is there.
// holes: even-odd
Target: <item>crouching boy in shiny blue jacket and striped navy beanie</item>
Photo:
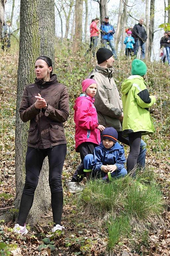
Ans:
[[[84,172],[92,177],[112,181],[127,175],[124,167],[126,162],[124,147],[117,142],[118,133],[113,127],[107,127],[102,132],[102,142],[95,147],[93,154],[84,158]]]

